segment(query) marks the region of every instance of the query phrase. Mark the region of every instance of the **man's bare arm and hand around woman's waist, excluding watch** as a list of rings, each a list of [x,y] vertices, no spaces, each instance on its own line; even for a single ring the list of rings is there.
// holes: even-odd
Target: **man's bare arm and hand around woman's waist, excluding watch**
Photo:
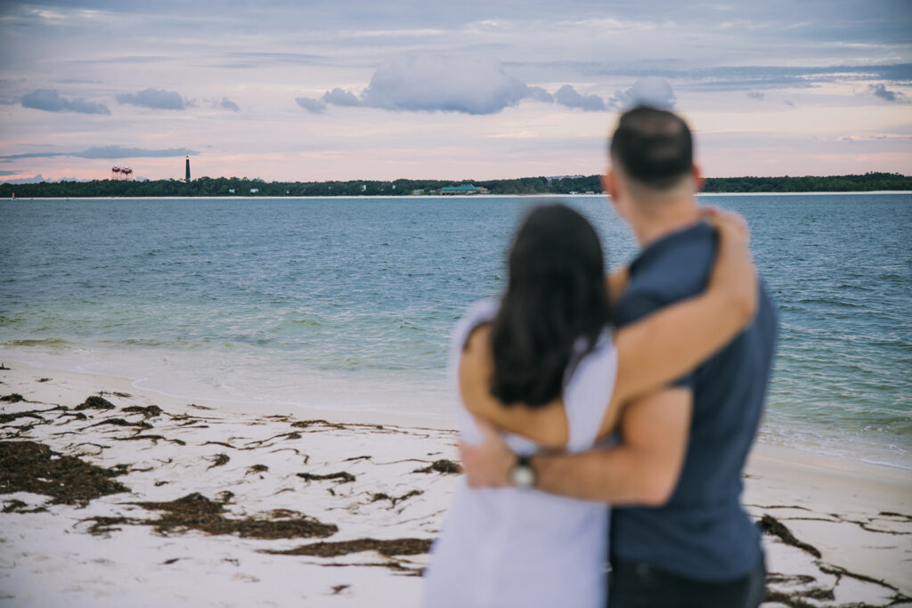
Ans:
[[[692,393],[671,387],[637,399],[622,417],[624,443],[581,454],[533,457],[536,488],[583,500],[658,506],[678,483],[687,451]],[[516,457],[489,430],[483,444],[461,445],[472,487],[508,485]]]

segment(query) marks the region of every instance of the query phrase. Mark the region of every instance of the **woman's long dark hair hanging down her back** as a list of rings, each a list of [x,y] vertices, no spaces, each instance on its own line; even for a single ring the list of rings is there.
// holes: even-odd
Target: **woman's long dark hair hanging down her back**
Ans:
[[[592,349],[609,322],[602,246],[576,211],[539,206],[516,233],[508,273],[492,327],[491,393],[506,405],[544,406],[561,394],[577,340]]]

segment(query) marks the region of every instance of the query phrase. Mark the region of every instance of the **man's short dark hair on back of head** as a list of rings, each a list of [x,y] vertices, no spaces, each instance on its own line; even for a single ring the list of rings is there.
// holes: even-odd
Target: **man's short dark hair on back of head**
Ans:
[[[621,115],[611,138],[611,158],[627,176],[666,190],[693,170],[693,139],[678,115],[637,106]]]

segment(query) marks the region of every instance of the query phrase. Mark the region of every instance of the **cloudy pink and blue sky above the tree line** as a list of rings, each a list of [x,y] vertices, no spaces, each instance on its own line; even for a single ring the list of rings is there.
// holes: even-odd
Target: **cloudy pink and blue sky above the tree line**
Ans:
[[[0,0],[0,180],[589,175],[637,102],[709,177],[912,173],[912,5]]]

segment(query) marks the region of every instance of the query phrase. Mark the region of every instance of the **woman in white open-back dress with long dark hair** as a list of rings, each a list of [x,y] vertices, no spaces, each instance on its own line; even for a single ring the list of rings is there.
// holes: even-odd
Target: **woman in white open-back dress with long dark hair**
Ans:
[[[739,220],[711,218],[719,255],[703,294],[612,336],[608,290],[619,292],[626,273],[606,284],[596,232],[575,211],[532,211],[513,241],[506,294],[474,304],[453,331],[463,439],[480,438],[473,417],[513,430],[506,440],[520,455],[608,438],[624,403],[749,323],[757,278]],[[603,504],[463,482],[431,551],[423,605],[604,606],[607,525]]]

